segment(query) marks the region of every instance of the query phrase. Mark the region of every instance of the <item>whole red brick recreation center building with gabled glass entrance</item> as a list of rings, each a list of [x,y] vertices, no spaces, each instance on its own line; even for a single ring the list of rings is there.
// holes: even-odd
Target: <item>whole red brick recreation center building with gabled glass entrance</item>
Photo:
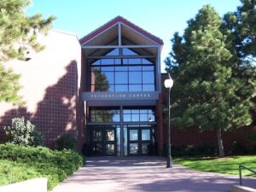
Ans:
[[[160,73],[163,42],[129,20],[116,17],[80,40],[50,31],[40,39],[45,49],[28,61],[9,61],[20,73],[23,108],[0,103],[3,125],[24,116],[54,147],[55,139],[72,133],[79,150],[90,155],[160,154],[166,143],[162,105],[166,91]],[[248,131],[253,131],[252,128]],[[236,140],[247,145],[246,131],[224,134],[230,150]],[[215,134],[172,129],[172,145],[216,145]]]

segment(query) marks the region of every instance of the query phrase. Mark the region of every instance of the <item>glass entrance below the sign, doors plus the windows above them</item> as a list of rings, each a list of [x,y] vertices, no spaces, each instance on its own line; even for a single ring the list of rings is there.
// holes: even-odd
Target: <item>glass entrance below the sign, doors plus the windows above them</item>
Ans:
[[[90,108],[87,125],[91,155],[156,154],[152,108]]]

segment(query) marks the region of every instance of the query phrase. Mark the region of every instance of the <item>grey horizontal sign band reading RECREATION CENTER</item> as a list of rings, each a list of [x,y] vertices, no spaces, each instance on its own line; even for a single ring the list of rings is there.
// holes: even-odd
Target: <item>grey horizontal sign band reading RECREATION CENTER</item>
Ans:
[[[84,101],[157,100],[159,92],[84,92]]]

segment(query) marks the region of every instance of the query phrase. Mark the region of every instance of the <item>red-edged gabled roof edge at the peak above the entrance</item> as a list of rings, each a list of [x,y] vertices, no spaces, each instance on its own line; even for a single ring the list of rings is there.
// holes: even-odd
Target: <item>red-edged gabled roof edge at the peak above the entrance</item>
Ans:
[[[118,22],[121,22],[121,23],[125,24],[126,26],[131,27],[136,32],[143,34],[145,37],[151,39],[152,41],[154,41],[157,44],[160,44],[160,45],[164,44],[162,39],[157,38],[156,36],[154,36],[153,34],[151,34],[149,32],[146,32],[145,30],[143,30],[143,28],[136,26],[135,24],[131,23],[131,21],[126,20],[124,17],[121,17],[121,16],[115,17],[113,20],[108,21],[108,23],[104,24],[103,26],[100,26],[95,31],[90,32],[88,35],[84,36],[84,38],[80,38],[79,39],[80,44],[84,44],[88,40],[95,38],[96,35],[103,32],[104,30],[108,29],[109,27],[116,25]]]

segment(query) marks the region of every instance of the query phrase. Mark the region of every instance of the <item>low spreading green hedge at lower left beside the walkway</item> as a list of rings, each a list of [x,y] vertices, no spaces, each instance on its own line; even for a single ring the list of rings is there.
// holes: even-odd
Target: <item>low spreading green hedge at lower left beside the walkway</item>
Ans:
[[[73,150],[57,151],[45,147],[25,147],[12,143],[0,144],[0,160],[9,160],[13,166],[25,167],[28,170],[20,172],[21,176],[19,176],[20,179],[17,178],[17,181],[32,177],[47,177],[48,189],[53,189],[84,162],[83,157]],[[2,163],[6,164],[7,161],[2,161]],[[6,173],[6,177],[9,177],[9,173]],[[0,183],[7,184],[3,183],[6,177],[0,177],[2,180]]]

